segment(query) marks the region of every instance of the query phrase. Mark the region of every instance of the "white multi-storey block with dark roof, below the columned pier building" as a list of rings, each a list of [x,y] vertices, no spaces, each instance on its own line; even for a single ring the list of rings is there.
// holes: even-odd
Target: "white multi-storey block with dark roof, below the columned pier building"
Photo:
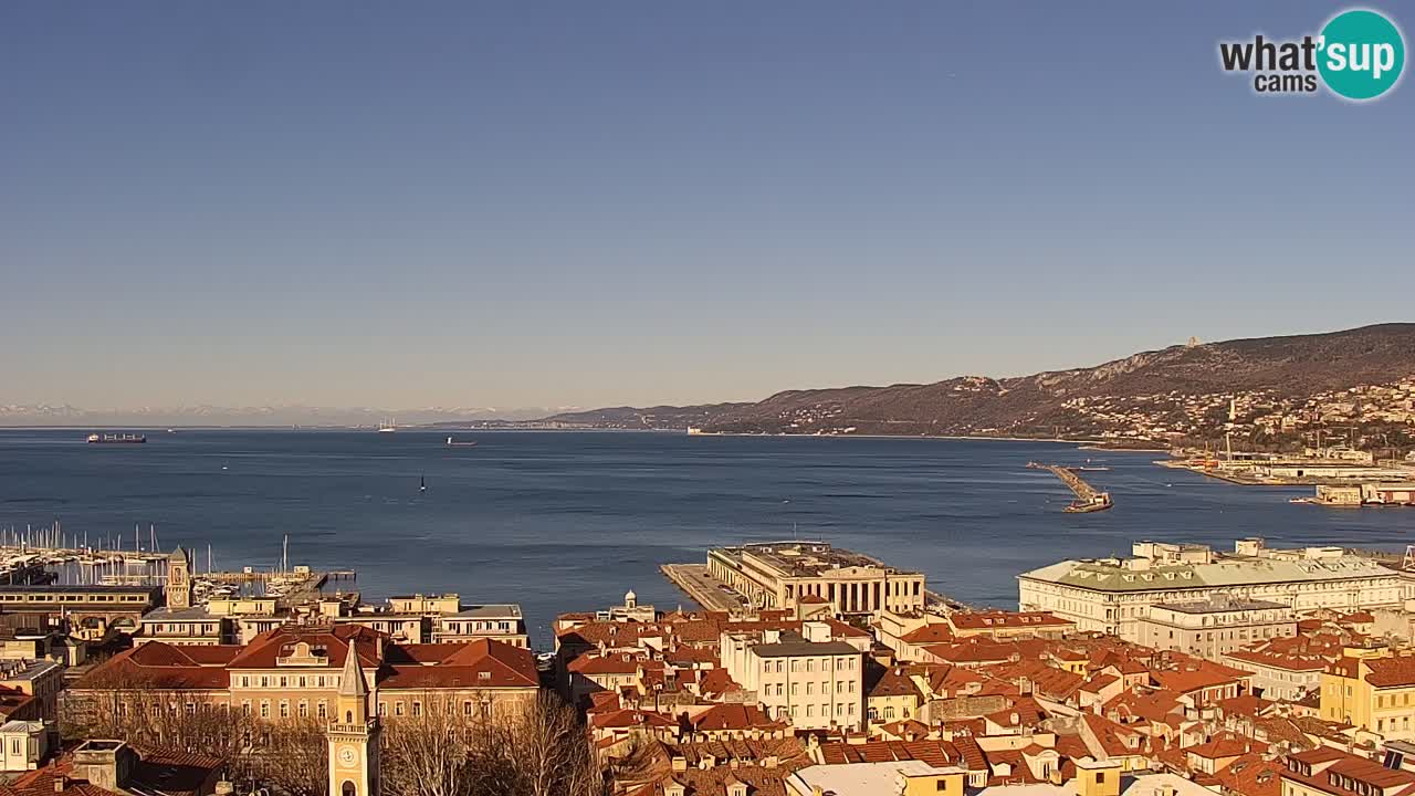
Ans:
[[[832,642],[824,622],[804,622],[801,633],[726,632],[719,650],[733,681],[757,695],[767,715],[798,729],[865,725],[865,654]]]

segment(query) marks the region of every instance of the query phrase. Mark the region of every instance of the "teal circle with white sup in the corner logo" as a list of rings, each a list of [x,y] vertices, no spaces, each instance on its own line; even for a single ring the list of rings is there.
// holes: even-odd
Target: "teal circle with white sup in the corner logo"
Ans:
[[[1333,93],[1375,99],[1405,68],[1405,40],[1395,23],[1365,8],[1341,11],[1322,28],[1317,71]]]

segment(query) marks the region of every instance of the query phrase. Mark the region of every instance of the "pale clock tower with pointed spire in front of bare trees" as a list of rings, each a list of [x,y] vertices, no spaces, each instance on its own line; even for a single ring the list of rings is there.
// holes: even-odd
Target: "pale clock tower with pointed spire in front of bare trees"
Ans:
[[[369,711],[368,683],[350,639],[340,693],[325,737],[330,741],[330,796],[379,796],[378,717]]]

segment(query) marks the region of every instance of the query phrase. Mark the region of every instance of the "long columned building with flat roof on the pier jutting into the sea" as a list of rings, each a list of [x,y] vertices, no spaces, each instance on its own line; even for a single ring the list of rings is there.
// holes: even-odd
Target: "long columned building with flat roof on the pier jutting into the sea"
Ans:
[[[826,542],[784,541],[708,551],[708,574],[754,608],[794,609],[825,601],[836,613],[924,609],[924,575]]]

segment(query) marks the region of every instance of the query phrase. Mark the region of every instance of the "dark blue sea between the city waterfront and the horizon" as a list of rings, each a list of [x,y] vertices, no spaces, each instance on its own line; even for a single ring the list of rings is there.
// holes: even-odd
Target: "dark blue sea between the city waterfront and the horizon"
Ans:
[[[709,547],[825,538],[923,569],[955,598],[1015,606],[1020,571],[1126,552],[1136,538],[1231,545],[1401,548],[1415,510],[1323,510],[1152,465],[1157,453],[932,439],[610,432],[180,431],[142,446],[82,432],[0,431],[0,527],[125,534],[156,524],[163,550],[215,550],[218,568],[290,561],[352,568],[365,598],[460,592],[519,602],[538,643],[556,613],[688,605],[658,565]],[[1029,460],[1085,473],[1116,506],[1063,514],[1071,494]],[[426,477],[427,491],[419,493]],[[146,545],[146,541],[144,541]]]

